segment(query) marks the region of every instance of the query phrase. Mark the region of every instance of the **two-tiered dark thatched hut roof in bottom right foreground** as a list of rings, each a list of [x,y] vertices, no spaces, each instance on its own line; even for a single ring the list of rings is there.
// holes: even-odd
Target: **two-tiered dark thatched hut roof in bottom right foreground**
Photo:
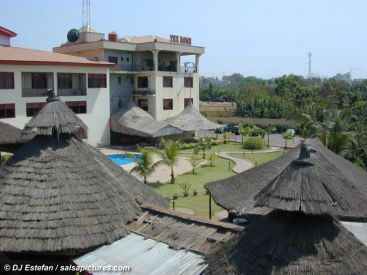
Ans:
[[[212,254],[205,273],[365,274],[367,247],[333,217],[340,208],[354,213],[354,198],[311,175],[312,152],[302,145],[299,159],[255,196],[255,206],[276,210]]]

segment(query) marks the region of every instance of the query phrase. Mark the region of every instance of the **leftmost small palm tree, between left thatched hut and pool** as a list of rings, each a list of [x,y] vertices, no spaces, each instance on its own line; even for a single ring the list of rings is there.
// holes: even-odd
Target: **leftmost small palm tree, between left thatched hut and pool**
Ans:
[[[154,161],[154,152],[148,148],[138,147],[138,151],[141,154],[141,158],[137,158],[135,154],[126,153],[125,157],[134,159],[136,165],[130,170],[131,174],[143,177],[144,183],[147,184],[147,177],[149,177],[159,163]]]

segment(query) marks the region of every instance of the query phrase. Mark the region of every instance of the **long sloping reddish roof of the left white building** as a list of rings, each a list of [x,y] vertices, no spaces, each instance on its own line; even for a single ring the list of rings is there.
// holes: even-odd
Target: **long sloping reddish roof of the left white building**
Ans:
[[[0,64],[112,67],[113,63],[83,57],[18,47],[0,47]]]

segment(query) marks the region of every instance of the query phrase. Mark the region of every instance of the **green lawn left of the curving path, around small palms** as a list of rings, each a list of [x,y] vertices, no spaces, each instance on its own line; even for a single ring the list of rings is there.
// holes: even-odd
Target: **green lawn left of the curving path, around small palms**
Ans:
[[[228,169],[229,164],[230,169]],[[161,183],[161,184],[151,184],[150,186],[152,186],[163,197],[172,197],[173,194],[179,195],[179,198],[175,201],[176,207],[189,208],[194,210],[197,216],[208,217],[209,196],[206,194],[204,184],[207,182],[234,176],[235,173],[232,171],[233,165],[234,163],[232,161],[219,158],[214,161],[214,167],[210,167],[209,165],[199,167],[195,169],[195,175],[193,175],[192,173],[187,173],[178,176],[176,179],[176,183],[174,184]],[[189,197],[183,197],[182,195],[183,190],[180,186],[180,183],[191,184]],[[192,195],[194,189],[198,191],[197,196]],[[170,207],[172,207],[172,203]],[[222,208],[216,205],[213,201],[212,214],[214,215],[214,213],[219,212],[221,210]]]

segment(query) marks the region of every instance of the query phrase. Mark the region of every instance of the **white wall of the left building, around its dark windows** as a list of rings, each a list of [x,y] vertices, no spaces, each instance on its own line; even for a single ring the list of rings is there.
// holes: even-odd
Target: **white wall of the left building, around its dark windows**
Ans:
[[[22,72],[53,72],[54,87],[57,87],[57,72],[64,73],[105,73],[107,74],[107,88],[87,88],[87,96],[63,96],[62,101],[87,101],[87,114],[78,116],[88,126],[88,142],[96,146],[102,142],[110,144],[109,116],[110,92],[108,68],[97,67],[66,67],[66,66],[35,66],[35,65],[0,65],[2,72],[14,72],[15,87],[12,90],[0,90],[0,104],[15,103],[15,118],[1,119],[18,128],[31,119],[26,116],[26,103],[45,102],[46,97],[22,97]],[[87,79],[87,76],[86,76]],[[55,89],[57,93],[57,89]]]

